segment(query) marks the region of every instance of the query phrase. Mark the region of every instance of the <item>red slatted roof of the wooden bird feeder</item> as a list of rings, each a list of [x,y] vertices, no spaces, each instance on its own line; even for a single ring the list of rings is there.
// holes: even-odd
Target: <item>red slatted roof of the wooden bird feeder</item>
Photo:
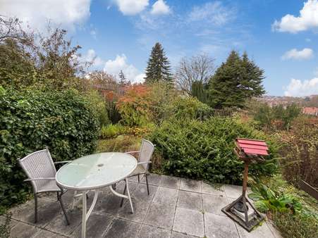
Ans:
[[[236,139],[237,146],[245,153],[258,156],[268,156],[268,146],[264,141],[257,139]]]

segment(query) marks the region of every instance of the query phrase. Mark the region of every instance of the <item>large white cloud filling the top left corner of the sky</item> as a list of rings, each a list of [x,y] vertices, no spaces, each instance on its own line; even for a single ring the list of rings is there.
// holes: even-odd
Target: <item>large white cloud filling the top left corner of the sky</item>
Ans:
[[[68,30],[83,23],[90,17],[90,0],[54,0],[54,1],[1,1],[1,15],[16,17],[23,21],[27,29],[45,30],[50,22]]]

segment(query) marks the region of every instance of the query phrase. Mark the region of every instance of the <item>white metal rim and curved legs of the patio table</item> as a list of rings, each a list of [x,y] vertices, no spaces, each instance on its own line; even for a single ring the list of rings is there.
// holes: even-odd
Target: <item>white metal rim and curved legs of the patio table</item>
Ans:
[[[103,153],[101,153],[103,154]],[[116,154],[119,154],[118,152],[116,152]],[[127,154],[123,154],[123,153],[120,153],[122,154],[123,156],[127,156]],[[131,156],[131,155],[128,155],[128,156]],[[85,157],[85,156],[84,156]],[[133,156],[131,156],[133,157]],[[81,157],[82,158],[82,157]],[[133,157],[135,159],[135,157]],[[78,159],[75,159],[74,161],[76,161]],[[129,173],[127,173],[126,175],[124,175],[123,177],[119,177],[117,180],[114,180],[114,181],[111,181],[111,182],[108,182],[106,184],[99,184],[98,186],[90,186],[90,187],[73,187],[73,186],[68,186],[66,184],[63,184],[61,182],[59,182],[59,180],[57,179],[58,177],[58,174],[59,174],[59,171],[61,171],[62,169],[66,169],[66,166],[69,166],[70,164],[72,164],[74,161],[71,161],[70,163],[66,164],[66,165],[63,165],[56,173],[56,183],[65,188],[65,189],[68,189],[68,190],[74,190],[75,191],[75,194],[76,192],[78,191],[81,191],[82,194],[78,194],[80,196],[82,196],[82,238],[85,238],[86,237],[86,223],[87,223],[87,220],[88,218],[90,217],[90,214],[92,213],[93,209],[94,209],[94,206],[96,205],[97,203],[97,198],[98,198],[98,194],[99,194],[99,189],[102,188],[102,187],[109,187],[109,189],[111,190],[111,192],[113,194],[115,194],[116,196],[120,196],[124,199],[129,199],[129,202],[130,202],[130,208],[131,208],[131,211],[132,213],[134,212],[133,211],[133,203],[131,201],[131,198],[130,198],[130,192],[129,192],[129,188],[128,188],[128,176],[130,175],[130,173],[133,172],[133,170],[135,170],[135,168],[137,167],[137,160],[135,159],[135,166],[132,167],[131,171]],[[116,182],[120,182],[124,180],[126,182],[126,190],[127,190],[127,195],[125,194],[119,194],[118,192],[116,192],[114,189],[113,189],[113,185],[116,184]],[[92,201],[92,204],[89,208],[89,210],[87,211],[87,192],[90,192],[90,191],[94,191],[94,199]],[[75,196],[74,194],[74,196]]]

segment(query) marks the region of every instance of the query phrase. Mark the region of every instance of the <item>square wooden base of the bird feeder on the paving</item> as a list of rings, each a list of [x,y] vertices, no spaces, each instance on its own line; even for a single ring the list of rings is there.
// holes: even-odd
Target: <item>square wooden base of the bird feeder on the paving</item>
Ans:
[[[243,210],[238,209],[238,207],[241,207],[242,203],[243,196],[241,195],[238,199],[236,199],[236,201],[233,201],[222,208],[222,211],[228,215],[229,218],[240,224],[245,230],[247,230],[247,232],[250,232],[255,226],[259,225],[262,220],[264,220],[264,217],[255,209],[255,207],[246,197],[246,206],[243,206]],[[247,206],[247,203],[249,206]],[[240,205],[238,206],[238,204]]]

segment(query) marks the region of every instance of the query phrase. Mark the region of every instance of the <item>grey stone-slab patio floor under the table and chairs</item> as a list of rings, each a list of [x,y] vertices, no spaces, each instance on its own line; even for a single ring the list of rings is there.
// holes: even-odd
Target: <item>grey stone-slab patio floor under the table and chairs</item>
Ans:
[[[134,214],[130,213],[128,201],[120,208],[121,198],[109,188],[102,189],[87,221],[87,237],[281,237],[268,221],[249,233],[221,212],[240,196],[240,186],[215,189],[201,181],[154,174],[149,176],[149,184],[148,196],[145,180],[130,180]],[[116,189],[122,192],[123,186],[121,182]],[[33,200],[11,209],[11,237],[80,237],[82,213],[81,208],[71,211],[72,195],[63,195],[71,225],[66,225],[56,196],[51,194],[39,199],[36,225]]]

